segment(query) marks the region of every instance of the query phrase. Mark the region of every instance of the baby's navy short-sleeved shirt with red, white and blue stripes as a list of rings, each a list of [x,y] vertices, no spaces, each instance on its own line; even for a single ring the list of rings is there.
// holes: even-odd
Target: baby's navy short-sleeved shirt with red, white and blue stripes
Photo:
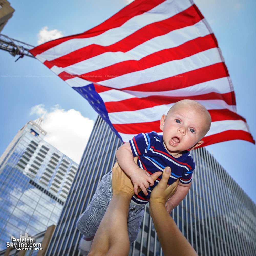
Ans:
[[[138,156],[138,166],[146,170],[150,175],[154,172],[162,171],[166,166],[171,167],[171,176],[168,184],[172,184],[178,178],[183,184],[188,184],[192,180],[192,173],[195,169],[195,162],[193,161],[189,151],[183,151],[178,158],[170,155],[164,147],[162,135],[156,132],[140,133],[129,141],[132,148],[133,157]],[[138,195],[132,197],[132,201],[136,204],[145,205],[150,198],[152,189],[161,180],[162,175],[155,181],[153,186],[150,186],[145,196],[142,191]]]

